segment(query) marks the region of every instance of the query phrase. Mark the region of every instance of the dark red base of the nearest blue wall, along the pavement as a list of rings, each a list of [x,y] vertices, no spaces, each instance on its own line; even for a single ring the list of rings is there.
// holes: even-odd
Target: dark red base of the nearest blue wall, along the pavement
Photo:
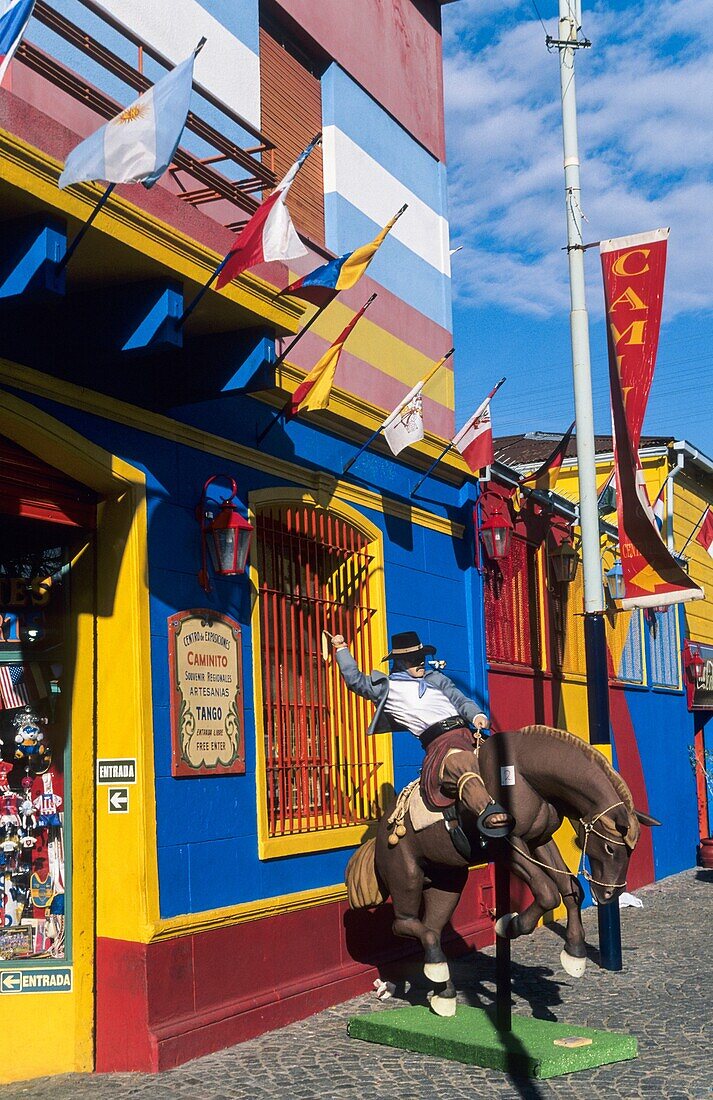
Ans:
[[[456,956],[494,941],[487,867],[463,891]],[[177,936],[152,944],[97,942],[97,1070],[173,1066],[284,1027],[366,992],[384,975],[416,971],[413,941],[392,935],[391,905],[345,902]]]

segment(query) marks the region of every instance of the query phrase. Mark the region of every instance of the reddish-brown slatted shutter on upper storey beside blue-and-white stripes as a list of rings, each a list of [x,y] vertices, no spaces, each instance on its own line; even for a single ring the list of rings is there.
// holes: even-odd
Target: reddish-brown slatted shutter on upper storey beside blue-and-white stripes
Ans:
[[[307,59],[289,50],[277,30],[260,29],[262,132],[275,143],[275,175],[282,179],[310,139],[321,130],[321,84]],[[297,231],[325,243],[325,186],[321,148],[300,168],[287,206]]]

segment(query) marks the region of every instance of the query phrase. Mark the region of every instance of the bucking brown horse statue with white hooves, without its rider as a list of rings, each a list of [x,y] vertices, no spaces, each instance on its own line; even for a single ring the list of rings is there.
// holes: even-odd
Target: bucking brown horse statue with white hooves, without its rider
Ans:
[[[515,820],[509,836],[490,840],[485,848],[475,826],[473,794],[481,782],[479,773],[491,798]],[[564,817],[571,821],[582,868],[584,857],[591,868],[581,873],[599,904],[606,905],[626,886],[639,824],[660,823],[634,809],[626,783],[601,752],[549,726],[494,734],[472,750],[453,748],[443,759],[438,780],[440,794],[451,798],[454,809],[438,818],[435,814],[427,817],[432,824],[424,825],[421,815],[414,827],[414,805],[407,807],[407,800],[399,796],[396,811],[380,820],[376,837],[362,845],[348,864],[352,909],[379,904],[391,894],[394,933],[420,941],[424,972],[438,983],[431,1008],[439,1015],[452,1015],[456,988],[441,933],[465,886],[469,865],[504,860],[527,883],[534,901],[523,913],[501,917],[497,934],[513,939],[529,935],[561,898],[567,927],[560,960],[569,975],[582,977],[586,960],[583,890],[567,868],[553,834]]]

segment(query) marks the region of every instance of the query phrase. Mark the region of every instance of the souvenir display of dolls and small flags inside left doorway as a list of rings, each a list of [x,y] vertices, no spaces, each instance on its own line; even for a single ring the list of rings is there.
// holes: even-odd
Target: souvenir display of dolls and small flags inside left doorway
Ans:
[[[48,525],[30,521],[30,528],[21,531],[3,519],[3,528],[0,966],[9,960],[13,965],[32,959],[66,961],[69,552],[42,543],[43,536],[46,540],[54,534]]]

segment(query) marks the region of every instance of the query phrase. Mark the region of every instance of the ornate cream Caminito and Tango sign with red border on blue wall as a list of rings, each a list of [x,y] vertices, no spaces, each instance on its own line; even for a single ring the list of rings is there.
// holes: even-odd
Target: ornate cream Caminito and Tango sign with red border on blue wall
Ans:
[[[245,772],[240,626],[209,610],[168,618],[172,772]]]

